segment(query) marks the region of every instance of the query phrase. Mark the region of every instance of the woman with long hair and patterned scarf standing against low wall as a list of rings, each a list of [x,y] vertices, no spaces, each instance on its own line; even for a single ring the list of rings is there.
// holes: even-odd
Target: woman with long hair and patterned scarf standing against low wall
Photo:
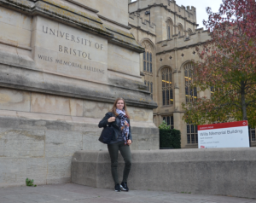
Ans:
[[[125,100],[117,98],[113,103],[111,112],[106,113],[105,117],[100,121],[99,127],[109,126],[113,128],[114,135],[112,141],[108,144],[108,153],[111,159],[111,172],[113,182],[115,184],[114,190],[120,192],[128,192],[127,178],[131,170],[131,150],[130,145],[132,142],[130,116],[127,111]],[[125,168],[123,172],[123,181],[119,184],[118,175],[118,155],[119,151],[125,159]]]

